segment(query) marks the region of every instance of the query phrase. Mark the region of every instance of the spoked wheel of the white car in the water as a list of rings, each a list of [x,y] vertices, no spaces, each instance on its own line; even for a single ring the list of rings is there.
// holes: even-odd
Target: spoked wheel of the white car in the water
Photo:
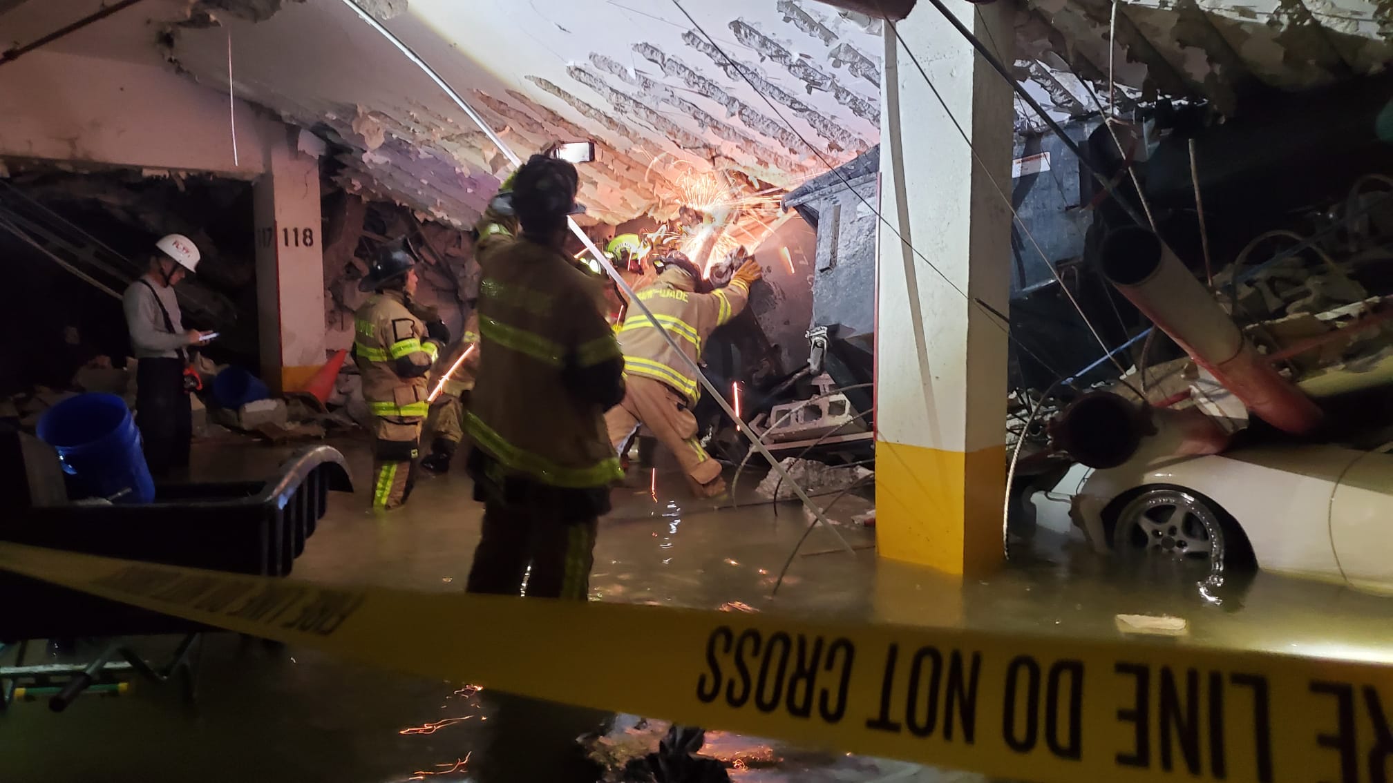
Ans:
[[[1247,545],[1237,525],[1227,521],[1227,514],[1202,495],[1148,488],[1117,511],[1113,550],[1123,560],[1192,566],[1217,577]]]

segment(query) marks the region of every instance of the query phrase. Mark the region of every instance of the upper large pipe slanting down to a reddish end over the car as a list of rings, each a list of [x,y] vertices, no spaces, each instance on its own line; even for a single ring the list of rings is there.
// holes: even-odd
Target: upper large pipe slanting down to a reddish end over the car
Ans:
[[[1103,241],[1102,261],[1107,281],[1252,412],[1293,435],[1319,426],[1321,408],[1258,354],[1156,234],[1117,228]]]

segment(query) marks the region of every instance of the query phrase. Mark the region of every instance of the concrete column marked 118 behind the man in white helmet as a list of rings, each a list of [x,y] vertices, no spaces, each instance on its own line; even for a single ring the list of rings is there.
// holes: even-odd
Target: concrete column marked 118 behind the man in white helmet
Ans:
[[[256,311],[262,379],[295,390],[325,364],[325,263],[316,137],[283,125],[267,141],[256,212]]]

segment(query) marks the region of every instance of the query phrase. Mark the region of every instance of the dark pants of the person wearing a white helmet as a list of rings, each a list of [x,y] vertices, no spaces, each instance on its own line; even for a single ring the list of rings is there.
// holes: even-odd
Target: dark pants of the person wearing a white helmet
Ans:
[[[194,418],[184,392],[184,361],[141,359],[135,368],[135,426],[150,475],[188,467]]]

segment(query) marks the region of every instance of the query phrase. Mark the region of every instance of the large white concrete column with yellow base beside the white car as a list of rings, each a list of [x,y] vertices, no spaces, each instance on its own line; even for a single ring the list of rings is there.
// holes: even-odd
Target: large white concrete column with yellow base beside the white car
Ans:
[[[1013,42],[1011,4],[949,6],[989,46]],[[1010,210],[988,171],[1010,192],[1011,88],[932,6],[897,28],[880,88],[880,210],[894,228],[882,223],[878,248],[876,545],[975,574],[1003,552],[1007,339],[970,300],[1007,311]]]

